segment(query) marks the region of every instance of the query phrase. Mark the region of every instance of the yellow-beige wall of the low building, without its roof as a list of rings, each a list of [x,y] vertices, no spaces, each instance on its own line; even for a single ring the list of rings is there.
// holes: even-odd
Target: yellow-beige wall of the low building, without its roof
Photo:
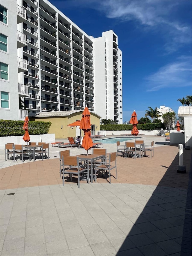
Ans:
[[[30,117],[30,120],[51,122],[49,133],[55,134],[55,138],[64,139],[67,137],[76,136],[76,127],[73,127],[72,129],[70,126],[67,126],[67,125],[75,122],[76,120],[81,120],[81,118],[82,118],[82,113],[79,115],[72,114],[70,116],[63,116],[63,117],[61,116],[60,117],[41,117],[41,118]],[[98,117],[91,115],[91,124],[95,125],[95,130],[99,131],[100,121]],[[81,135],[83,136],[83,131],[81,131]]]

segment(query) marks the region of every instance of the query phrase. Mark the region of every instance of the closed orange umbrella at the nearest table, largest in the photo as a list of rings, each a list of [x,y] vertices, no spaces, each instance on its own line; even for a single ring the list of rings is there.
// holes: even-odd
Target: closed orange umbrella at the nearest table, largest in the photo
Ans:
[[[85,105],[85,109],[82,113],[82,119],[81,119],[81,124],[80,124],[80,129],[84,131],[84,137],[82,140],[82,147],[87,150],[87,155],[88,155],[88,150],[92,148],[93,146],[93,141],[91,140],[91,121],[90,121],[90,112],[88,110],[87,105]]]

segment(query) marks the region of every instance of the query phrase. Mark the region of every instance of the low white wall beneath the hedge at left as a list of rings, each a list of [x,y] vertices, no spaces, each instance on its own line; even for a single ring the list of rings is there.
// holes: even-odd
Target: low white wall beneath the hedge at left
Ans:
[[[22,137],[23,136],[1,137],[0,149],[4,149],[6,143],[27,145],[27,143],[22,139]],[[55,142],[55,134],[30,135],[30,142],[52,143],[52,142]],[[29,142],[28,142],[28,145],[29,145]]]

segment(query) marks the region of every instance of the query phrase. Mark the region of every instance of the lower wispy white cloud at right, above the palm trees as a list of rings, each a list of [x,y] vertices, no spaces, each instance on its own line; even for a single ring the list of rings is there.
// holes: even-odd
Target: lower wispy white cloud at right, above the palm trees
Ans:
[[[182,56],[178,61],[161,67],[156,73],[146,77],[146,80],[148,92],[191,86],[191,58]]]

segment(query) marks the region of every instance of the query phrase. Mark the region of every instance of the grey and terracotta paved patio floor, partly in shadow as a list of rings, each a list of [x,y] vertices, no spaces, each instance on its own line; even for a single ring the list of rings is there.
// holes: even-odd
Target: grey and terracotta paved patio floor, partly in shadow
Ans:
[[[63,148],[51,148],[44,161],[1,158],[1,255],[179,256],[191,150],[183,151],[187,173],[179,174],[176,145],[144,140],[155,141],[154,158],[118,156],[117,180],[98,177],[80,189],[75,178],[62,186]],[[115,144],[104,148],[116,151]]]

